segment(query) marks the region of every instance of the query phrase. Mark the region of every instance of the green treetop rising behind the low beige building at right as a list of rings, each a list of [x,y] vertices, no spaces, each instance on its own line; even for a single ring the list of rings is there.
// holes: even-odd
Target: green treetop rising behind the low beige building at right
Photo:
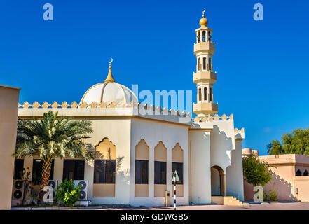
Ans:
[[[282,144],[273,140],[267,146],[270,155],[301,154],[309,155],[309,128],[298,128],[291,133],[282,135]]]

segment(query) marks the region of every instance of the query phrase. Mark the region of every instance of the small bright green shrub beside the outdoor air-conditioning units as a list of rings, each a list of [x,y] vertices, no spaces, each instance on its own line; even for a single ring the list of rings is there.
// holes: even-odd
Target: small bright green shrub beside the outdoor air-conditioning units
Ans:
[[[72,180],[67,181],[64,179],[62,183],[57,187],[57,195],[55,197],[56,202],[60,201],[66,206],[72,207],[74,203],[77,202],[79,194],[81,192],[81,187],[74,187]]]

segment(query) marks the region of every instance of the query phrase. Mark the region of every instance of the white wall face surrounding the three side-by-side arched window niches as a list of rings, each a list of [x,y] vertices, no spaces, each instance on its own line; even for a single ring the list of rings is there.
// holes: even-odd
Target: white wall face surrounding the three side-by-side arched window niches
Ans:
[[[184,150],[184,197],[177,197],[177,204],[188,204],[188,126],[172,123],[132,119],[131,130],[130,204],[133,206],[163,206],[164,197],[154,197],[154,148],[162,141],[167,148],[167,190],[172,195],[172,148],[179,143]],[[135,197],[135,146],[141,139],[149,146],[149,197]],[[170,197],[170,204],[174,199]]]

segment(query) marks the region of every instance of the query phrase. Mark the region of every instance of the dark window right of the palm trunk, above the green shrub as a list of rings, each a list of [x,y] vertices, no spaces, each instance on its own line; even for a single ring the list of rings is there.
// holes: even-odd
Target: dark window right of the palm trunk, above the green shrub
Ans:
[[[63,177],[67,180],[83,180],[85,175],[84,160],[64,160]]]

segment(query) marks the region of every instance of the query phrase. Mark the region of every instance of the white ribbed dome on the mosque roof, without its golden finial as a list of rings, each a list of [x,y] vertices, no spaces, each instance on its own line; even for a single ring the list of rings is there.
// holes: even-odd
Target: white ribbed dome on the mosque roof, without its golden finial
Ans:
[[[81,98],[81,103],[91,104],[96,102],[101,104],[105,102],[106,104],[111,104],[111,102],[115,102],[117,106],[123,106],[123,104],[129,106],[132,101],[138,102],[135,94],[128,87],[115,82],[93,85]]]

